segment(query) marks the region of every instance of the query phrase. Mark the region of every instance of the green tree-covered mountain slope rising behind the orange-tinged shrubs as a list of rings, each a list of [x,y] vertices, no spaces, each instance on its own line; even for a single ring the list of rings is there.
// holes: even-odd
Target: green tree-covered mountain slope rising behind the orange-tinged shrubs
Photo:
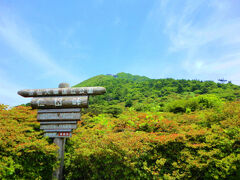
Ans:
[[[240,98],[240,87],[228,82],[150,79],[145,76],[118,73],[116,75],[98,75],[87,79],[74,87],[103,86],[107,93],[90,99],[89,110],[94,113],[119,111],[133,107],[137,111],[151,111],[157,107],[164,111],[170,102],[187,100],[196,96],[215,96],[223,101]],[[93,103],[94,102],[94,103]],[[121,110],[120,110],[121,109]]]

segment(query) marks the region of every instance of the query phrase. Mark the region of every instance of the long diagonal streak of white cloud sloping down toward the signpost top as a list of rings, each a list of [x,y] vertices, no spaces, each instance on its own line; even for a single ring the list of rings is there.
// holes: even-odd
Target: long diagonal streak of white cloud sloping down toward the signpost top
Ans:
[[[73,74],[58,65],[57,61],[40,47],[39,43],[32,36],[28,26],[14,15],[1,13],[0,36],[24,60],[43,69],[45,78],[57,75],[60,78],[70,79],[71,81],[77,80]]]

